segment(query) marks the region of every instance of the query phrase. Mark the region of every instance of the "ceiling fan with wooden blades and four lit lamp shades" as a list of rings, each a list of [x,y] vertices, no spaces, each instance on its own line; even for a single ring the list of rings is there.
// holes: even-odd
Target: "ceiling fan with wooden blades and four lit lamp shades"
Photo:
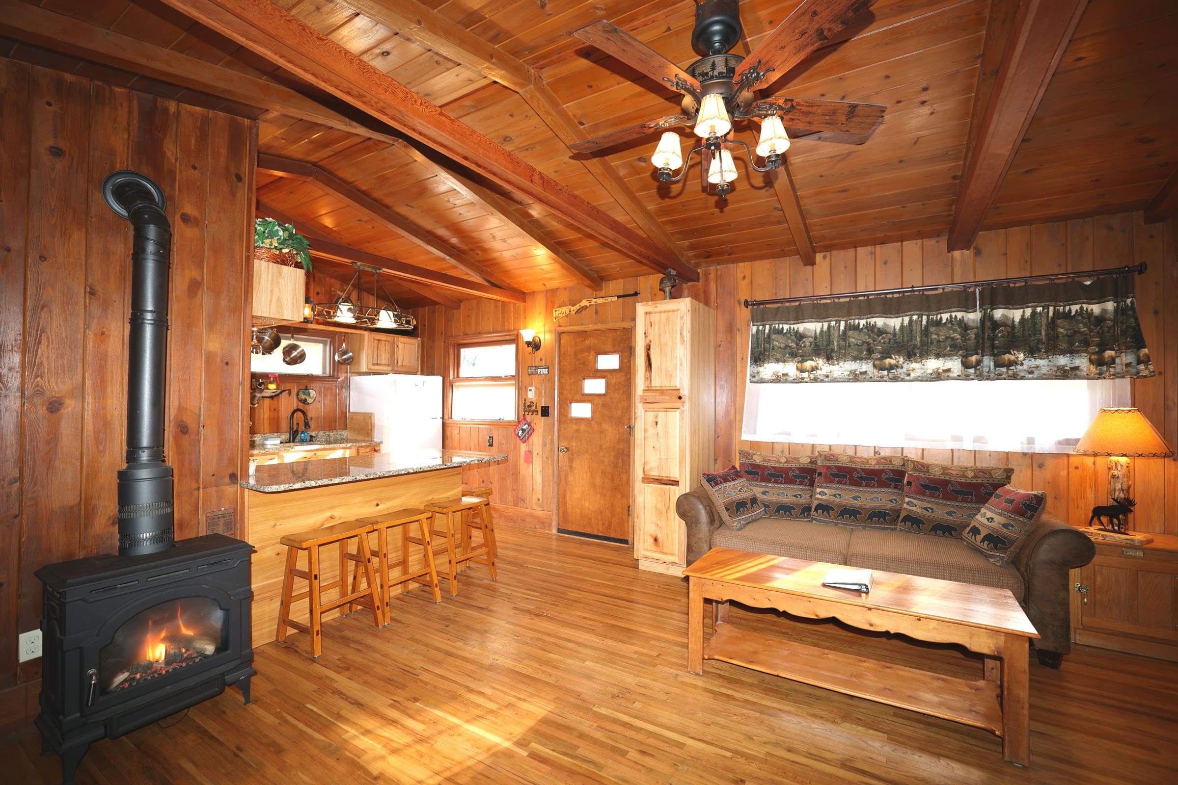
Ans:
[[[608,21],[596,21],[574,35],[611,54],[630,67],[683,94],[680,114],[640,122],[611,133],[570,145],[577,153],[591,153],[615,147],[656,131],[662,138],[651,162],[662,182],[677,182],[687,173],[687,160],[699,152],[707,184],[716,186],[723,199],[736,179],[729,147],[741,145],[749,165],[757,172],[781,166],[789,139],[812,139],[846,145],[861,145],[884,120],[887,107],[879,104],[855,104],[807,98],[773,97],[757,100],[757,86],[774,81],[770,74],[785,74],[807,55],[827,45],[843,31],[867,21],[866,14],[875,0],[802,0],[776,29],[769,33],[748,56],[729,49],[740,42],[739,0],[702,0],[695,6],[691,47],[702,56],[680,68],[646,44]],[[734,121],[761,120],[756,154],[765,159],[757,166],[747,144],[732,139]],[[682,154],[676,127],[694,127],[703,144]],[[683,167],[679,175],[671,169]],[[704,186],[707,187],[707,186]]]

